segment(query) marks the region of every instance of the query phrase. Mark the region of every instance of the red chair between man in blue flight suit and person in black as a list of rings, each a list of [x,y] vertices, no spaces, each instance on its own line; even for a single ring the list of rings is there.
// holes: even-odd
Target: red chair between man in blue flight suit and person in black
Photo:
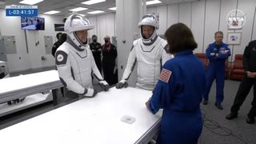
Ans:
[[[234,56],[234,63],[230,69],[230,79],[234,80],[242,80],[244,70],[242,68],[242,54],[235,54]]]

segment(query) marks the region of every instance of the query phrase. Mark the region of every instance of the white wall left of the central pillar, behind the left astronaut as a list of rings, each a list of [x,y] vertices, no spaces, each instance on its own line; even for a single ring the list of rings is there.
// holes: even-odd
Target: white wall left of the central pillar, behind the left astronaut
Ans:
[[[44,36],[52,36],[53,41],[56,42],[58,31],[54,31],[54,23],[63,23],[63,18],[46,14],[39,14],[38,17],[45,18],[45,30],[22,30],[20,17],[6,17],[5,10],[0,10],[2,36],[14,35],[16,40],[17,54],[7,54],[7,65],[10,72],[55,65],[53,56],[46,54]],[[102,14],[89,19],[95,25],[95,29],[89,31],[88,37],[97,34],[98,42],[103,43],[103,38],[106,35],[115,36],[114,13]],[[38,46],[35,45],[36,42],[39,42]],[[42,61],[42,57],[45,57],[46,60]]]

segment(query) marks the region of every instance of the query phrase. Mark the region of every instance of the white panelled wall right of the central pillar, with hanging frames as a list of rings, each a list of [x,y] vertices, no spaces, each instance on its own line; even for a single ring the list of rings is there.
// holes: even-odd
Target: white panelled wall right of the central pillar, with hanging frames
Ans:
[[[147,9],[147,13],[159,13],[158,34],[164,34],[165,30],[176,22],[183,22],[190,27],[198,42],[195,53],[205,53],[210,42],[214,42],[214,32],[218,30],[224,33],[223,42],[226,42],[228,32],[242,32],[241,44],[230,45],[232,54],[230,61],[233,61],[235,54],[242,54],[248,42],[256,39],[255,6],[255,0],[201,0],[153,6]],[[246,24],[242,30],[228,30],[226,15],[230,10],[235,9],[242,10],[246,14]]]

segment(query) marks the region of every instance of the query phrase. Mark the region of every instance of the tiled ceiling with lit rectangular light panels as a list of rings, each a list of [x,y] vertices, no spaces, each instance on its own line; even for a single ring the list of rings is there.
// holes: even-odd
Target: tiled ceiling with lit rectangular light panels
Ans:
[[[23,5],[19,3],[22,0],[0,0],[0,8],[5,9],[6,6],[10,5]],[[110,7],[115,7],[115,1],[116,0],[106,0],[106,2],[100,2],[96,3],[94,5],[84,5],[81,4],[81,2],[85,2],[87,0],[44,0],[43,2],[39,2],[35,4],[38,6],[38,13],[42,14],[46,11],[50,10],[58,10],[61,11],[61,13],[54,14],[58,16],[67,17],[72,12],[70,12],[70,9],[74,9],[77,7],[86,7],[88,10],[79,11],[79,14],[86,14],[87,17],[94,16],[95,14],[87,14],[90,11],[94,10],[103,10],[106,11],[103,14],[107,13],[115,13],[114,10],[109,10]],[[151,0],[146,0],[151,1]],[[150,5],[150,6],[161,6],[161,5],[168,5],[168,4],[174,4],[174,3],[181,3],[181,2],[192,2],[192,1],[198,1],[198,0],[160,0],[162,3],[157,5]],[[148,7],[150,7],[148,6]]]

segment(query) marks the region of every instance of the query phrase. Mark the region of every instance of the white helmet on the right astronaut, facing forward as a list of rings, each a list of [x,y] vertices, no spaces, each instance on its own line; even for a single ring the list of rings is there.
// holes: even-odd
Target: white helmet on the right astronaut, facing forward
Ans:
[[[151,35],[150,38],[146,38],[142,32],[142,26],[153,26],[154,33]],[[158,18],[154,14],[145,14],[142,17],[141,22],[138,22],[138,27],[140,28],[141,38],[144,43],[150,43],[154,41],[154,38],[157,37],[157,32],[159,27]]]

